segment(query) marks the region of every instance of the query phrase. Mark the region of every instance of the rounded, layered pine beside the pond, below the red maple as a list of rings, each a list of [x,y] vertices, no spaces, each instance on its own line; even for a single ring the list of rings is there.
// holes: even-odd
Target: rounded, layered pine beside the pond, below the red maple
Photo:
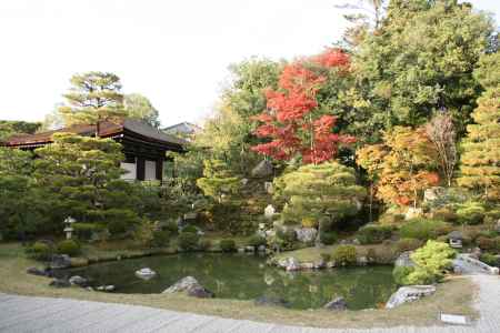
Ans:
[[[339,222],[354,215],[366,195],[356,184],[354,170],[338,162],[300,167],[279,183],[287,201],[282,213],[286,222]]]

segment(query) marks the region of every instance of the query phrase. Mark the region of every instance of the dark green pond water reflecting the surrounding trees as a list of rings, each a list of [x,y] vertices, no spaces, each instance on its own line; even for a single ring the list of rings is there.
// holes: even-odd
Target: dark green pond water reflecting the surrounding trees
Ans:
[[[150,268],[149,281],[134,275]],[[390,266],[286,272],[266,265],[266,259],[246,254],[182,253],[94,264],[72,269],[70,275],[91,279],[93,285],[113,284],[120,293],[161,293],[191,275],[219,299],[254,300],[266,295],[286,300],[292,309],[318,309],[334,295],[348,307],[376,307],[396,291]]]

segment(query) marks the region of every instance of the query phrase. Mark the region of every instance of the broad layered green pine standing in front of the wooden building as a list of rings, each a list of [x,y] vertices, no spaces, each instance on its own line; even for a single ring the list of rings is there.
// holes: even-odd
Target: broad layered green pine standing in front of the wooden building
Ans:
[[[127,229],[138,222],[130,185],[120,180],[121,149],[112,139],[57,133],[52,144],[36,150],[33,175],[37,184],[54,198],[54,219],[62,223],[71,215],[79,222],[111,229]],[[116,228],[118,224],[123,228]]]

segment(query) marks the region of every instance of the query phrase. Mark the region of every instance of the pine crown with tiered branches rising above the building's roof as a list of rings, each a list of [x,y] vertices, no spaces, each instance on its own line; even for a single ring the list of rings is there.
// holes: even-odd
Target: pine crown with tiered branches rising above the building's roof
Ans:
[[[67,125],[97,124],[127,114],[123,108],[120,78],[113,73],[86,72],[71,78],[72,88],[64,94],[67,104],[59,112]],[[99,134],[99,133],[97,133]]]

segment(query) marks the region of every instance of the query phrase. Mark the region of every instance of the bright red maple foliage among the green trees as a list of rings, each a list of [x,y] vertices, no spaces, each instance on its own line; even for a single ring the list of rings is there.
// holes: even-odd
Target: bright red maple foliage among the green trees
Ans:
[[[253,151],[277,160],[297,155],[304,164],[333,159],[339,144],[354,142],[354,138],[332,132],[336,117],[320,112],[317,93],[326,81],[324,70],[342,75],[349,70],[349,56],[338,49],[301,59],[286,65],[278,90],[267,91],[267,110],[254,120],[262,122],[256,130],[259,138],[270,139]]]

